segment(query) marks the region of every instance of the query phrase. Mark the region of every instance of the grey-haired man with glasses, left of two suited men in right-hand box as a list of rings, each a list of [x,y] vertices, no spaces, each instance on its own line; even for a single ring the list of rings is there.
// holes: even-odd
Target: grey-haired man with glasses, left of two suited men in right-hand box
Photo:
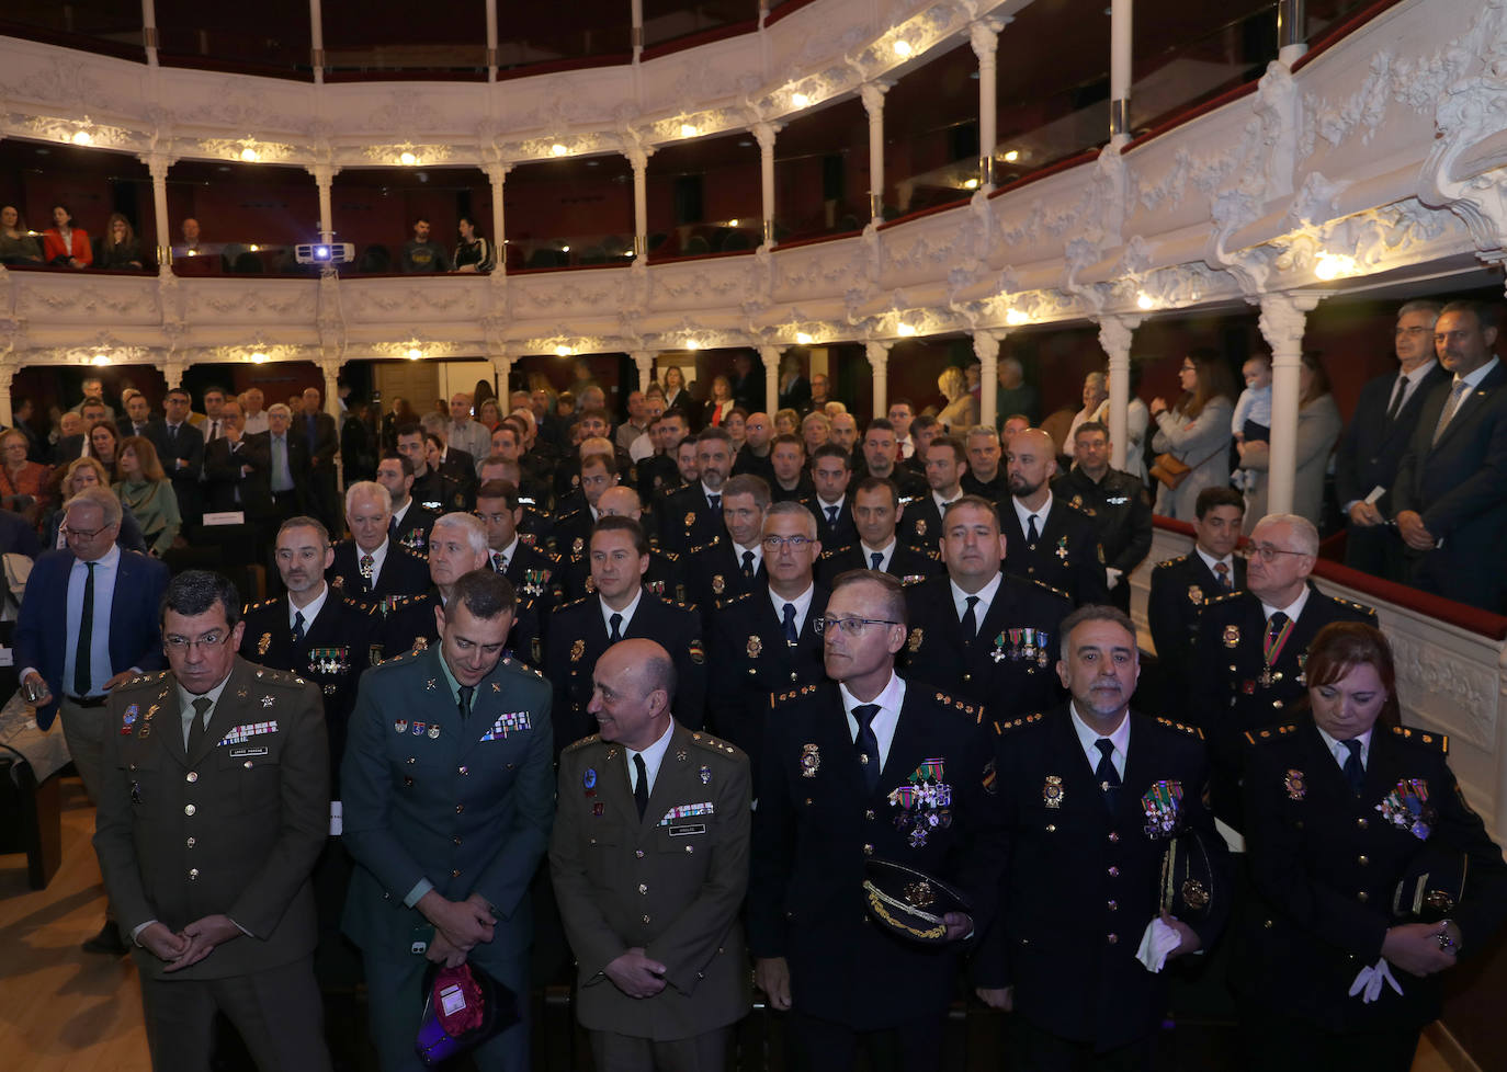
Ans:
[[[1386,525],[1389,492],[1424,402],[1450,378],[1433,351],[1438,319],[1436,301],[1409,301],[1397,310],[1392,339],[1398,369],[1361,388],[1334,452],[1334,491],[1349,525],[1344,565],[1392,581],[1406,578],[1402,544]]]

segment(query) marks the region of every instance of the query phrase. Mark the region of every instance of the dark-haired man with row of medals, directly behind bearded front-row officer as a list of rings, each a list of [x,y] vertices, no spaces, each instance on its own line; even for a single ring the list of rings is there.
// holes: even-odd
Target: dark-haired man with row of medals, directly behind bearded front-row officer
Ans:
[[[999,571],[1005,541],[995,504],[954,501],[943,518],[948,572],[906,589],[909,673],[946,682],[999,720],[1055,706],[1053,644],[1073,610],[1061,592]]]

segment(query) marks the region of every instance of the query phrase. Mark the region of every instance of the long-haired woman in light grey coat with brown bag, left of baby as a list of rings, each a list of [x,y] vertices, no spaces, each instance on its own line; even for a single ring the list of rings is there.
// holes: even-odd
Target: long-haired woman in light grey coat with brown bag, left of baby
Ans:
[[[1198,492],[1230,482],[1230,414],[1233,387],[1230,372],[1212,349],[1191,349],[1178,372],[1183,388],[1175,405],[1151,399],[1151,420],[1157,432],[1151,449],[1169,455],[1186,467],[1181,474],[1166,470],[1157,476],[1156,512],[1166,518],[1192,521]],[[1174,467],[1175,468],[1175,467]],[[1174,486],[1175,483],[1175,486]]]

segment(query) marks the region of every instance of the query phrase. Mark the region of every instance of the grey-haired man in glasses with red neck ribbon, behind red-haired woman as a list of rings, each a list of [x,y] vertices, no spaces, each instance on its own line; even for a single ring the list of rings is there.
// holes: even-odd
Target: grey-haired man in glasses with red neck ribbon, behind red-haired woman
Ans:
[[[1246,592],[1204,607],[1189,672],[1188,714],[1213,757],[1215,813],[1242,828],[1245,732],[1287,718],[1304,696],[1308,643],[1329,622],[1376,625],[1376,611],[1326,596],[1308,580],[1319,530],[1296,513],[1270,513],[1251,531]]]

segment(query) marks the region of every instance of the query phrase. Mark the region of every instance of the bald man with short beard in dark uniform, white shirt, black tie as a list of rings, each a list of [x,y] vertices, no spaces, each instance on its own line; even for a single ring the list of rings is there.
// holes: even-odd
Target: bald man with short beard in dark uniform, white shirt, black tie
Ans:
[[[1005,473],[1010,497],[999,506],[1005,572],[1061,589],[1078,607],[1109,602],[1105,551],[1093,519],[1052,495],[1052,437],[1038,428],[1019,432],[1010,440]]]

